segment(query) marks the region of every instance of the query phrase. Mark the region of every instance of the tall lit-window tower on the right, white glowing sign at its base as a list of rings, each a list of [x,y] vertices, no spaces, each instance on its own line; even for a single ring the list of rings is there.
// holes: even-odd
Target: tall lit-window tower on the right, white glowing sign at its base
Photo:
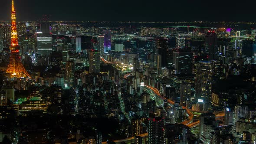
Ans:
[[[212,89],[211,63],[197,62],[196,70],[196,98],[197,100],[202,99],[205,104],[209,104]]]

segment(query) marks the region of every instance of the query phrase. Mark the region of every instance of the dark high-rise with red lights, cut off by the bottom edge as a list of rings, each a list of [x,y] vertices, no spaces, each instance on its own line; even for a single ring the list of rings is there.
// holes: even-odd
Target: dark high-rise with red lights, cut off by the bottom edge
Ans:
[[[164,119],[161,117],[149,118],[148,144],[164,143]]]

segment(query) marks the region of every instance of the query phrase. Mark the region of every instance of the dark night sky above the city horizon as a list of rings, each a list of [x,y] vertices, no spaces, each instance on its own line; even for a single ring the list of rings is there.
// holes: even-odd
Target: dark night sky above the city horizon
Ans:
[[[15,0],[17,20],[256,21],[256,0]],[[1,0],[0,20],[10,20]]]

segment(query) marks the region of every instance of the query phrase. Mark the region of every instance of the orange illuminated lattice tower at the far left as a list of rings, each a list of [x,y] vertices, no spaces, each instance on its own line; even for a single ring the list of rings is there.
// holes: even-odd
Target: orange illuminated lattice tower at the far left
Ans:
[[[31,78],[20,60],[20,46],[18,44],[18,35],[16,27],[16,12],[12,0],[12,26],[11,26],[11,46],[10,62],[6,73],[10,73],[11,78]]]

